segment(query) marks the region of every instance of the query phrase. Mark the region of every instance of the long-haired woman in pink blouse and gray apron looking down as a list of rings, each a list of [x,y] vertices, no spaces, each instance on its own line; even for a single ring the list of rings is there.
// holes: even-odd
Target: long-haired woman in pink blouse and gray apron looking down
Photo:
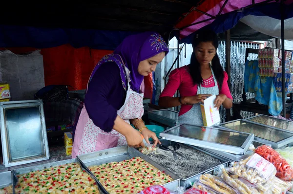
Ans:
[[[203,125],[200,102],[216,95],[215,107],[232,107],[232,96],[228,87],[228,75],[220,65],[216,50],[218,37],[213,31],[202,31],[195,35],[190,64],[173,70],[163,90],[159,106],[171,108],[181,106],[179,123]],[[174,98],[179,89],[180,97]]]

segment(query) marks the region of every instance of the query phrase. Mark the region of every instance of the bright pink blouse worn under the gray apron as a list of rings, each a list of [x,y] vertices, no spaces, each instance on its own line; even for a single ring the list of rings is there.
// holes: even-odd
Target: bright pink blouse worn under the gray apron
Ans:
[[[219,94],[225,94],[227,98],[232,99],[230,89],[228,87],[228,74],[224,71],[224,80],[222,88],[219,88]],[[202,87],[213,87],[215,86],[213,76],[211,75],[209,79],[204,80]],[[219,86],[219,85],[218,85]],[[195,96],[197,95],[197,84],[193,84],[193,80],[189,74],[188,66],[183,66],[178,69],[174,69],[170,75],[167,85],[165,86],[160,97],[173,97],[175,92],[179,89],[181,96]],[[188,112],[192,106],[181,105],[179,116]]]

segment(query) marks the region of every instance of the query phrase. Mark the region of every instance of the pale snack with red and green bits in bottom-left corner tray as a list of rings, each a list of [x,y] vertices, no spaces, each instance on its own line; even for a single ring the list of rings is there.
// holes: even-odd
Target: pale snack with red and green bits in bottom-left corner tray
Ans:
[[[78,163],[18,175],[16,194],[99,194],[96,182]]]

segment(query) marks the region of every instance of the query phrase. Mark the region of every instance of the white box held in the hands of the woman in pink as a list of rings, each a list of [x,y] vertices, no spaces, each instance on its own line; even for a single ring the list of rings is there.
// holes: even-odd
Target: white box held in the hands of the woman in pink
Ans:
[[[204,100],[204,104],[200,105],[204,126],[206,127],[210,127],[221,123],[219,110],[217,110],[214,104],[215,99],[216,95],[212,95],[206,100]]]

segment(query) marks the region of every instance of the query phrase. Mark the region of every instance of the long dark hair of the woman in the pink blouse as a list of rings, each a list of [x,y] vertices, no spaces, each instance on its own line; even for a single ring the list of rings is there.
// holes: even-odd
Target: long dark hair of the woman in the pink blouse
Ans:
[[[218,37],[216,33],[214,33],[211,30],[201,31],[194,36],[194,39],[192,42],[193,49],[201,42],[212,42],[216,50],[219,46]],[[211,64],[212,64],[212,70],[219,84],[219,89],[221,89],[223,85],[223,80],[224,80],[224,72],[223,72],[223,68],[220,64],[220,60],[217,54],[213,57]],[[201,84],[203,81],[203,78],[201,76],[200,64],[195,57],[194,50],[191,54],[189,70],[190,70],[190,75],[192,77],[193,83],[198,85]]]

